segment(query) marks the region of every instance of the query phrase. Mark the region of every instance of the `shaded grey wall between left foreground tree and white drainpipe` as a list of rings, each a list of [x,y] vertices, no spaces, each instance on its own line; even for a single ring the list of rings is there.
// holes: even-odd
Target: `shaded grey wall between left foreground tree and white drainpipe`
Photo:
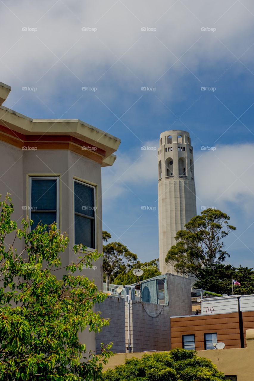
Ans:
[[[103,303],[96,304],[95,310],[101,312],[103,318],[109,318],[108,326],[103,327],[100,333],[96,333],[96,353],[100,353],[100,344],[108,344],[113,341],[111,351],[124,353],[125,349],[125,306],[124,298],[108,296]]]

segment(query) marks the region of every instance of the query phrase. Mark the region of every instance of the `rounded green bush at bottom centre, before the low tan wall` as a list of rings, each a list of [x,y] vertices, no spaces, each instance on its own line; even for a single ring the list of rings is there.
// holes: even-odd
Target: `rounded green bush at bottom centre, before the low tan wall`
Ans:
[[[223,373],[211,360],[198,357],[196,351],[182,348],[170,352],[145,354],[142,359],[125,360],[124,365],[108,369],[102,381],[220,381]]]

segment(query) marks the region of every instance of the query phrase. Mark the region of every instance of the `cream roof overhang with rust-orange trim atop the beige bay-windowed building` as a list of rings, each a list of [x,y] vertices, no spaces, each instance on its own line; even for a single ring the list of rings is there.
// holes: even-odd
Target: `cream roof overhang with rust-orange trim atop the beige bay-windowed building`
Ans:
[[[10,90],[10,86],[0,82],[0,104],[2,99],[4,101],[7,98]],[[121,143],[115,136],[79,119],[32,119],[4,106],[0,106],[0,125],[2,134],[10,134],[14,142],[40,143],[39,149],[47,147],[43,143],[66,142],[66,139],[76,146],[90,147],[86,149],[90,150],[90,158],[93,155],[100,157],[102,166],[113,165],[116,159],[113,153]],[[82,154],[87,156],[84,152]]]

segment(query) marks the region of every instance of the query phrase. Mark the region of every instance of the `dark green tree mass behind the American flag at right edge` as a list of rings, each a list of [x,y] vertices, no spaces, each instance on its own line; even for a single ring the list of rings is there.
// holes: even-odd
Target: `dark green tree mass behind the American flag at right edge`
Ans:
[[[194,287],[211,290],[215,293],[232,294],[232,278],[240,282],[241,286],[235,286],[235,295],[254,294],[254,271],[253,268],[238,267],[219,264],[216,266],[200,269]]]

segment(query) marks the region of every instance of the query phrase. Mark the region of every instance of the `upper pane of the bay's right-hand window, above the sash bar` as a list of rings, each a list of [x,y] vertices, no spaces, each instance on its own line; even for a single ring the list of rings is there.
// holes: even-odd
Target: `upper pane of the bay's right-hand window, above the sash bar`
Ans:
[[[94,189],[74,183],[75,212],[94,217]]]

